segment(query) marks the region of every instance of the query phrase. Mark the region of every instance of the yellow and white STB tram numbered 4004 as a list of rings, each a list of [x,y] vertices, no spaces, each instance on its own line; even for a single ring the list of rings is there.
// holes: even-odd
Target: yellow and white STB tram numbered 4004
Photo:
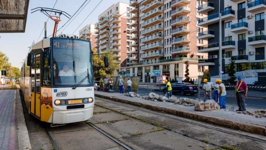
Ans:
[[[83,122],[93,115],[90,41],[52,37],[33,44],[21,69],[28,113],[43,122]]]

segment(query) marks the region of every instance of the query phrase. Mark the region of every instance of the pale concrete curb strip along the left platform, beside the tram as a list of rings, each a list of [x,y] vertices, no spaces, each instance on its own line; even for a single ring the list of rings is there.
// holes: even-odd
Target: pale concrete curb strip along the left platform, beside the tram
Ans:
[[[31,145],[28,136],[28,129],[25,123],[25,117],[23,113],[23,107],[19,90],[16,90],[16,103],[17,103],[17,124],[18,124],[18,149],[19,150],[31,150]]]

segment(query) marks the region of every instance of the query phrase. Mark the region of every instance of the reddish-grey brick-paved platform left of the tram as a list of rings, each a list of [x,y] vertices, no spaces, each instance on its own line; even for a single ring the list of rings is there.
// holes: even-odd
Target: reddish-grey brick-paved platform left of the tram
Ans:
[[[23,112],[21,111],[22,108],[17,109],[17,106],[19,106],[18,104],[21,104],[18,90],[0,90],[1,150],[31,149],[30,145],[24,145],[25,143],[27,143],[27,140],[25,141],[26,137],[20,137],[21,132],[24,132],[21,125],[23,125],[23,127],[26,127],[26,124],[25,120],[24,122],[18,122],[18,117],[24,117]],[[17,115],[18,113],[19,115]],[[24,145],[25,147],[23,147],[22,145]]]

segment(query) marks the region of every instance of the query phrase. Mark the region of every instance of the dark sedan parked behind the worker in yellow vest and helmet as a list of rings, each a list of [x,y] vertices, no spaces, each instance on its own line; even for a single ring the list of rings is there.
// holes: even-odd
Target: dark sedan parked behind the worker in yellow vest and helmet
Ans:
[[[188,85],[184,85],[182,83],[178,83],[178,84],[172,84],[172,93],[173,94],[180,94],[180,95],[186,95],[186,94],[190,94],[190,95],[195,95],[198,93],[198,87],[197,86],[188,86]],[[163,92],[166,93],[166,87],[163,89]]]

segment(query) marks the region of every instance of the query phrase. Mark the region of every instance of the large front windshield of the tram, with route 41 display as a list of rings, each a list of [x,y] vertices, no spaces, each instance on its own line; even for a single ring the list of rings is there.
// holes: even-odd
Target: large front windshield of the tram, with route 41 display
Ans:
[[[92,84],[90,43],[76,39],[53,39],[54,85]]]

